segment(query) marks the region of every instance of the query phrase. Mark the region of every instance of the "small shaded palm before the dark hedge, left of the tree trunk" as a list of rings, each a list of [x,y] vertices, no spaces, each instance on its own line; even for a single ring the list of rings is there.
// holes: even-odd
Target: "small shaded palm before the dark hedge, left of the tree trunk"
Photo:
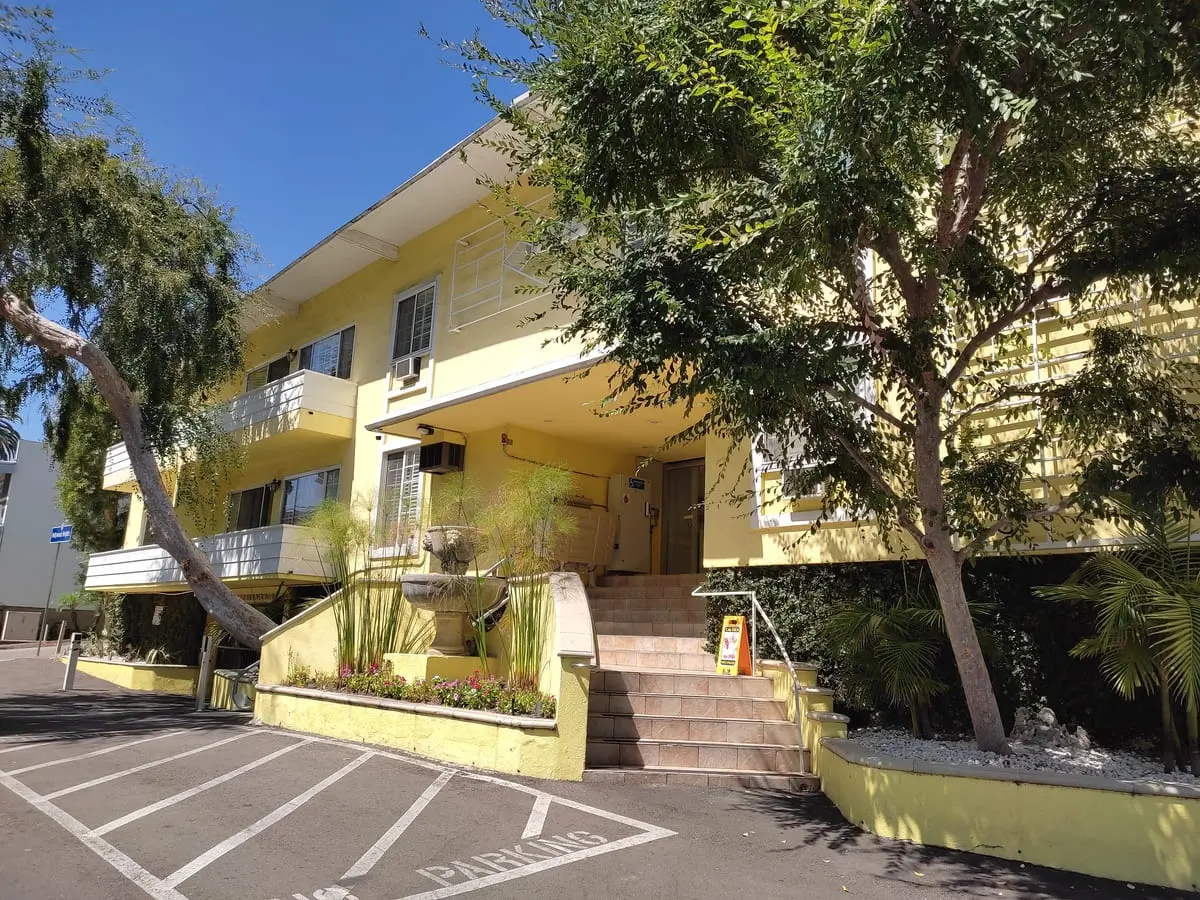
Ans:
[[[991,610],[971,604],[976,618]],[[822,636],[844,655],[845,686],[858,706],[907,709],[913,737],[932,737],[932,698],[949,688],[936,673],[949,640],[932,590],[918,584],[898,599],[874,594],[845,602],[824,623]],[[979,641],[990,648],[986,632],[979,632]]]

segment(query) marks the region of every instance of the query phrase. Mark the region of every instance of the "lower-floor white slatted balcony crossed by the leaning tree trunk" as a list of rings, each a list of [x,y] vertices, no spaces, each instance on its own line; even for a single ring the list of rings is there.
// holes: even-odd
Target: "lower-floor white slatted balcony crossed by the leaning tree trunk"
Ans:
[[[329,550],[310,528],[268,526],[202,538],[197,545],[212,570],[234,590],[314,584],[329,581],[322,558]],[[86,590],[156,594],[187,590],[184,572],[162,547],[150,544],[131,550],[92,553],[88,558]]]

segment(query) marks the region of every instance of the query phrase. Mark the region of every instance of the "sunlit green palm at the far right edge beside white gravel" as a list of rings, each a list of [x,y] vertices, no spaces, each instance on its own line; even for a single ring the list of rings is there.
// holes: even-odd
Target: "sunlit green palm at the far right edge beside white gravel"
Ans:
[[[1128,547],[1097,553],[1066,583],[1038,593],[1094,608],[1096,635],[1072,655],[1099,659],[1117,694],[1133,700],[1140,691],[1158,692],[1166,772],[1182,755],[1172,695],[1183,704],[1188,763],[1200,774],[1200,556],[1190,511],[1164,505],[1145,512],[1120,504],[1118,515]]]

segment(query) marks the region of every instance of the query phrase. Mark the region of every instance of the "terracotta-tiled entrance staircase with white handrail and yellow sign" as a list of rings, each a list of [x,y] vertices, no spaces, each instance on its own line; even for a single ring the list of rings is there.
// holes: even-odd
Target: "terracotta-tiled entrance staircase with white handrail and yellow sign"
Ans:
[[[583,780],[817,790],[770,680],[715,673],[698,583],[610,576],[588,589],[600,660]]]

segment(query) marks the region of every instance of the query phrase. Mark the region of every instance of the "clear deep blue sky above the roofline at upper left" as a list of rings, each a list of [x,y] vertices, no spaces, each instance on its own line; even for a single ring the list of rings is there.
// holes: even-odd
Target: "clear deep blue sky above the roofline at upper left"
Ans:
[[[516,46],[479,0],[48,2],[149,156],[236,209],[259,280],[490,118],[422,23]],[[41,439],[40,412],[24,418]]]

